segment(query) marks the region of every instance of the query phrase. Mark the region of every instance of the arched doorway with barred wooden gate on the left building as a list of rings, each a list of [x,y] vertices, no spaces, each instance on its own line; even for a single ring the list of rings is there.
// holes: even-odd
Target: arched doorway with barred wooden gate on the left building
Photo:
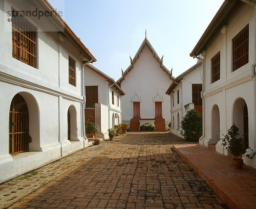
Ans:
[[[29,110],[25,99],[16,94],[9,112],[9,154],[29,151]]]

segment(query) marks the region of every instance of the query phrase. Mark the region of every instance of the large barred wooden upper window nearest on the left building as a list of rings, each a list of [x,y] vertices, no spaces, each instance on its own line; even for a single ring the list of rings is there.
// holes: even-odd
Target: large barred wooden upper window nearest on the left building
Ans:
[[[12,57],[37,68],[37,48],[38,28],[12,7]]]

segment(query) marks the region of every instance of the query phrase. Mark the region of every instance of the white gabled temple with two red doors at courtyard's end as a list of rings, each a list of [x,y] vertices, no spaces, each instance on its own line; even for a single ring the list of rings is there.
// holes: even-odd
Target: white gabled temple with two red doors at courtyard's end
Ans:
[[[171,102],[165,92],[173,80],[172,71],[163,65],[163,57],[159,58],[145,36],[117,81],[126,94],[122,97],[122,122],[128,124],[129,131],[139,131],[142,120],[154,124],[156,131],[166,131]]]

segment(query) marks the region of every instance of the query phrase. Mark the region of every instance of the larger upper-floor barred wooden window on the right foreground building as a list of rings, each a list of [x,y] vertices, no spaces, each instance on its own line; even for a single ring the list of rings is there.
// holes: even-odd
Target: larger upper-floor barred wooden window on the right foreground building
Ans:
[[[245,35],[247,35],[245,37],[246,40],[244,40],[242,43],[239,43],[239,46],[235,47],[234,45],[237,44],[236,41],[239,41],[239,38],[241,39]],[[239,56],[239,58],[235,58],[236,55]],[[232,71],[239,69],[240,67],[244,66],[248,62],[249,62],[249,24],[247,24],[247,26],[241,29],[241,31],[232,39]]]

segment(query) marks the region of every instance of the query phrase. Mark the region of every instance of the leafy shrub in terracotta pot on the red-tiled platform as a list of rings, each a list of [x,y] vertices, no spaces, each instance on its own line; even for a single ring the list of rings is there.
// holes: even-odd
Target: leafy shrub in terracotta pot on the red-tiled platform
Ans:
[[[239,128],[233,123],[230,129],[227,130],[227,134],[224,135],[224,139],[221,139],[222,145],[224,145],[226,150],[233,155],[234,158],[232,159],[232,164],[236,168],[243,167],[244,161],[241,159],[241,156],[246,153],[244,139],[239,136]]]

